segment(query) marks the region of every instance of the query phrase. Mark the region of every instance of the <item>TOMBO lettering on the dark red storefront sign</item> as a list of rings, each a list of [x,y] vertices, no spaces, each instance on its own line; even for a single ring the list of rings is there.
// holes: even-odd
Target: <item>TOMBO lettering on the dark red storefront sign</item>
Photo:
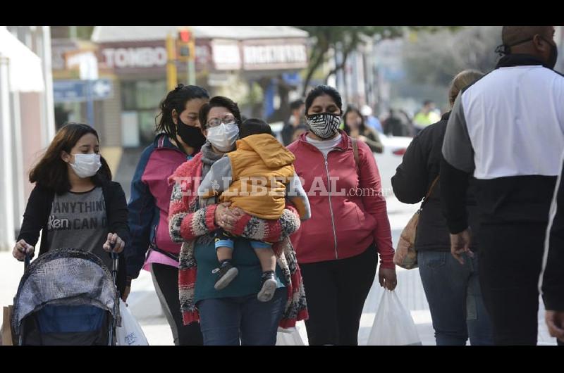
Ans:
[[[102,56],[108,68],[156,68],[166,65],[164,46],[105,48]]]

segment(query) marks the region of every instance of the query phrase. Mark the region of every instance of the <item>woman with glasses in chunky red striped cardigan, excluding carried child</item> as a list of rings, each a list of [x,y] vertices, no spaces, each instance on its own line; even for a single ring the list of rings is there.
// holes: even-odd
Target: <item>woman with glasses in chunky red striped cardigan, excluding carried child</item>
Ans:
[[[239,108],[216,96],[200,108],[200,124],[207,142],[194,158],[180,165],[174,183],[168,228],[174,242],[182,242],[178,267],[180,308],[184,324],[200,322],[204,345],[274,345],[280,327],[293,327],[307,317],[305,291],[288,236],[300,227],[300,216],[286,206],[280,219],[263,220],[225,203],[199,208],[197,187],[212,165],[235,149]],[[217,260],[213,232],[219,227],[235,236],[233,260],[239,274],[225,289],[214,287],[222,266]],[[274,297],[257,300],[262,269],[249,240],[273,242],[277,256]],[[216,268],[217,267],[217,268]]]

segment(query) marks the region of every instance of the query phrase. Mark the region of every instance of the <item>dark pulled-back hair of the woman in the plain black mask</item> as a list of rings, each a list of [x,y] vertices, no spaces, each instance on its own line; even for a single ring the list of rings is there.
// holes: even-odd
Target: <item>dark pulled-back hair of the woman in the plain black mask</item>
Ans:
[[[209,94],[202,87],[184,84],[178,84],[175,89],[168,92],[164,100],[159,103],[161,112],[154,120],[157,133],[164,132],[169,138],[176,139],[176,125],[172,120],[172,110],[176,110],[176,113],[180,115],[185,110],[186,103],[193,99],[209,99]],[[203,123],[201,125],[203,128]]]

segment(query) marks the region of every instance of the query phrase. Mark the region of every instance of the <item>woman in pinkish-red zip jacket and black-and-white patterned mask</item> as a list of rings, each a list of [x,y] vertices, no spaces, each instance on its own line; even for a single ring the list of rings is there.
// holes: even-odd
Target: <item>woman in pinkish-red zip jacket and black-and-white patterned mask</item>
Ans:
[[[376,252],[380,285],[393,290],[397,284],[386,200],[370,148],[338,129],[338,91],[315,87],[305,113],[309,131],[288,149],[312,209],[312,218],[291,236],[307,296],[307,338],[310,345],[357,345]]]

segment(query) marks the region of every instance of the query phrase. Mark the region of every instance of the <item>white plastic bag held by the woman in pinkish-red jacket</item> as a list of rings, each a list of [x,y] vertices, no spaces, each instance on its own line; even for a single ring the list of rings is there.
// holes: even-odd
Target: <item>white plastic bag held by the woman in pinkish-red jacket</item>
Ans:
[[[368,337],[368,346],[421,345],[415,322],[396,291],[384,290]]]

